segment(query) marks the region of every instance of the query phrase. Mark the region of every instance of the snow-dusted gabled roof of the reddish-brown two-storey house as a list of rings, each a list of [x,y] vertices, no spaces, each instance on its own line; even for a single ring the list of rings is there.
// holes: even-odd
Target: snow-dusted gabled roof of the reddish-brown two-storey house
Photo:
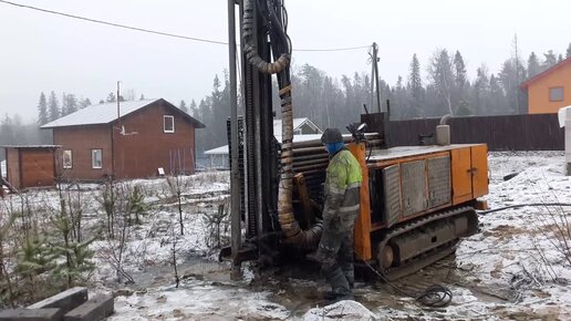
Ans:
[[[197,128],[204,128],[205,125],[197,120],[195,120],[189,114],[184,111],[177,108],[175,105],[169,103],[164,99],[158,100],[143,100],[143,101],[125,101],[120,103],[120,115],[123,118],[124,116],[132,114],[136,111],[139,111],[153,103],[163,102],[167,106],[177,110],[187,121],[193,123]],[[75,113],[71,113],[66,116],[58,118],[53,122],[44,124],[40,126],[40,128],[55,128],[55,127],[68,127],[68,126],[80,126],[80,125],[101,125],[101,124],[110,124],[117,120],[117,103],[106,103],[106,104],[97,104],[91,105],[83,110],[79,110]]]

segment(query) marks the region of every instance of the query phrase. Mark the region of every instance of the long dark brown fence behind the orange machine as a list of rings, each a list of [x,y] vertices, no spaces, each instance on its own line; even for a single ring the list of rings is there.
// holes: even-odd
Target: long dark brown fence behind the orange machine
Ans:
[[[435,134],[439,122],[392,121],[390,145],[418,145],[419,135]],[[489,151],[564,151],[564,127],[559,127],[557,114],[453,117],[448,125],[453,144],[486,143]]]

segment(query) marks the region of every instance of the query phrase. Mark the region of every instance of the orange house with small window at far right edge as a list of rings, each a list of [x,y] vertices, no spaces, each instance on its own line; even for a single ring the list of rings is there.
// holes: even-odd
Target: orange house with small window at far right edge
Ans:
[[[571,105],[571,58],[521,84],[528,91],[529,114],[553,114]]]

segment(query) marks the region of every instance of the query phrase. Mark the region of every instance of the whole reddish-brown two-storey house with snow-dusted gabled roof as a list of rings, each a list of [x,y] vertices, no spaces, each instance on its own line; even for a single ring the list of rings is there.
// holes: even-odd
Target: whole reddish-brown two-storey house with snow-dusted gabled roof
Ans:
[[[68,179],[147,178],[195,172],[195,130],[205,125],[166,100],[91,105],[48,123]]]

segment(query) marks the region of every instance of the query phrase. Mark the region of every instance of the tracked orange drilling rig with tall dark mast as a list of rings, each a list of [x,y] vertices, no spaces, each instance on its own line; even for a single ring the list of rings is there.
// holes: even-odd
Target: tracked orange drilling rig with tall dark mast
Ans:
[[[220,256],[235,266],[302,258],[321,237],[329,158],[320,139],[298,142],[293,136],[292,46],[283,0],[229,0],[228,12],[231,247]],[[280,106],[272,105],[276,91]],[[278,113],[280,141],[273,135]],[[355,259],[394,280],[453,253],[460,238],[477,232],[476,209],[486,206],[478,197],[488,193],[488,168],[487,146],[450,144],[446,118],[437,128],[437,145],[391,146],[388,114],[361,115],[362,125],[349,125],[344,141],[363,174]]]

